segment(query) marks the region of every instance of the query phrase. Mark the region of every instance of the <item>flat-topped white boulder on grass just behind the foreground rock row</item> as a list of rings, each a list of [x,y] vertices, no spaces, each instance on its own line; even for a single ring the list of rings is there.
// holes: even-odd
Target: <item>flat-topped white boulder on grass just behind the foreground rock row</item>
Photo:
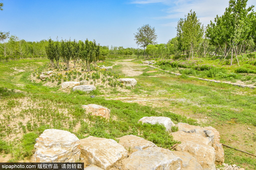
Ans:
[[[172,120],[169,117],[162,117],[162,116],[142,117],[138,122],[142,122],[142,124],[150,123],[152,125],[159,123],[164,125],[167,131],[172,130],[172,126],[175,126],[175,124],[172,122]]]

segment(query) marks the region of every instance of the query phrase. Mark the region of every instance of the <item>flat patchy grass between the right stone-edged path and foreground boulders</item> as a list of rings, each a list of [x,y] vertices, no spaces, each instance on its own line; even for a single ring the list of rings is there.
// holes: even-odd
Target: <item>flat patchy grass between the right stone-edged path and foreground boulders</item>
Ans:
[[[145,66],[137,65],[134,69],[143,67]],[[114,66],[117,72],[120,72],[120,68],[120,65]],[[256,135],[247,130],[247,127],[255,129],[256,126],[256,90],[234,87],[224,83],[200,81],[187,76],[175,76],[163,71],[146,73],[150,70],[156,69],[146,68],[142,75],[132,77],[140,82],[140,87],[133,90],[135,93],[145,93],[153,95],[155,98],[174,99],[165,101],[161,108],[193,118],[207,116],[211,122],[201,123],[201,125],[210,125],[219,130],[221,142],[237,148],[241,148],[241,143],[243,145],[252,144],[245,147],[246,151],[256,154]],[[167,92],[153,94],[154,90],[166,90]],[[241,128],[242,131],[246,129],[248,132],[239,134],[241,131],[239,126],[244,127]],[[231,130],[229,132],[230,127],[231,130],[233,127],[238,128],[237,134]],[[246,136],[243,136],[244,134]],[[230,142],[228,139],[232,139],[236,143]],[[249,169],[256,167],[255,157],[233,149],[224,149],[226,163],[236,163]]]

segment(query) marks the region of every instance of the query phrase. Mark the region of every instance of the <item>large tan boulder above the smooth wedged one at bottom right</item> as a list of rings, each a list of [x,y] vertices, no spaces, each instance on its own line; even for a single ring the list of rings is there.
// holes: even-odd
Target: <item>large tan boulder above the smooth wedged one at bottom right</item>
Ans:
[[[204,170],[215,170],[215,150],[212,146],[185,142],[175,147],[176,151],[186,152],[196,158]]]

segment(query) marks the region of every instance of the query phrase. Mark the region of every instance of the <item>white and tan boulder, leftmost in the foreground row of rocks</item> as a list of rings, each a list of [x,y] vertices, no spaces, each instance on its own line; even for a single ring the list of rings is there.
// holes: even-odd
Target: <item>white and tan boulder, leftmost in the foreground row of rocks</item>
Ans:
[[[35,154],[31,162],[77,162],[80,141],[66,130],[46,129],[36,138]]]

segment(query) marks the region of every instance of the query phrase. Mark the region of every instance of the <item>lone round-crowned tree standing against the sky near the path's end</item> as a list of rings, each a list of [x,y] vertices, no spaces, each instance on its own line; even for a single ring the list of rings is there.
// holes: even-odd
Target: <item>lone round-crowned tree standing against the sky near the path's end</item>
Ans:
[[[157,43],[155,27],[152,28],[149,24],[143,25],[141,28],[138,28],[138,32],[136,32],[134,35],[136,44],[141,45],[141,47],[144,48],[144,57],[146,57],[145,48],[147,45]]]

